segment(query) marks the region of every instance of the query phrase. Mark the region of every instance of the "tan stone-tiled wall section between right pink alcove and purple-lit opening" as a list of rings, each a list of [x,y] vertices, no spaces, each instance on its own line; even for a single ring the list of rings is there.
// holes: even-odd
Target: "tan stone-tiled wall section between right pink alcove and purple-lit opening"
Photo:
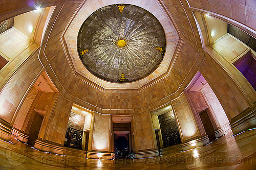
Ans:
[[[239,115],[249,107],[233,80],[207,53],[205,53],[205,61],[201,69],[203,70],[202,75],[214,90],[217,98],[220,99],[220,103],[229,119]]]

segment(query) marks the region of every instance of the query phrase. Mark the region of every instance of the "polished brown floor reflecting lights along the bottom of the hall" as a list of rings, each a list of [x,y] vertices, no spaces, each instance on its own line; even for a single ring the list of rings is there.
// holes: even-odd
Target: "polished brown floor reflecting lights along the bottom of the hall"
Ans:
[[[229,132],[212,143],[160,157],[127,160],[86,159],[36,151],[10,139],[0,141],[0,169],[256,169],[256,130]]]

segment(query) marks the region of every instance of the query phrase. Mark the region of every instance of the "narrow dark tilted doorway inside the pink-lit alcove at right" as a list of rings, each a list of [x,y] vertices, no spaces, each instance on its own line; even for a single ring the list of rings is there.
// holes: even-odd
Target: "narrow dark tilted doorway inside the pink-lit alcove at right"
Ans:
[[[214,127],[211,124],[207,111],[204,110],[201,113],[199,113],[199,115],[202,120],[205,133],[208,135],[209,140],[214,140],[215,139]]]

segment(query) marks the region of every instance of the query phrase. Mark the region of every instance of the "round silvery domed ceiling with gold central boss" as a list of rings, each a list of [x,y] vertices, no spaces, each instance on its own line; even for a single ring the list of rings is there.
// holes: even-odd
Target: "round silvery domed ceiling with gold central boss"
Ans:
[[[161,63],[165,34],[158,19],[133,5],[110,5],[93,12],[82,24],[77,49],[83,65],[110,82],[147,77]]]

